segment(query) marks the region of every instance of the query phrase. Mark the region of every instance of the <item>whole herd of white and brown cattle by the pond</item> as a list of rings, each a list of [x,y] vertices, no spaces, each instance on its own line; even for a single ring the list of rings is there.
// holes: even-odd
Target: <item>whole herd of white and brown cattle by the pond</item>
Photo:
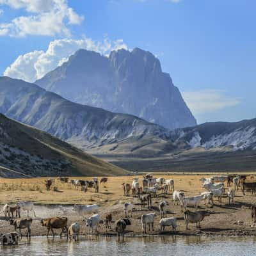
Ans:
[[[75,186],[75,188],[81,187],[81,191],[87,191],[88,188],[94,188],[95,192],[99,192],[99,182],[95,178],[92,181],[88,180],[69,180],[67,177],[60,177],[61,182],[68,183],[70,182]],[[184,212],[184,220],[186,223],[186,229],[188,230],[189,223],[196,223],[196,227],[200,228],[200,222],[204,220],[205,216],[209,216],[208,211],[198,211],[198,205],[201,201],[204,201],[204,204],[214,204],[214,198],[218,198],[218,202],[221,202],[221,198],[225,193],[224,182],[227,181],[228,191],[226,193],[228,198],[228,204],[234,202],[234,196],[236,191],[241,187],[243,195],[245,191],[256,191],[256,182],[254,180],[246,179],[246,175],[226,175],[226,176],[215,176],[211,178],[202,178],[202,188],[206,191],[200,193],[196,196],[186,196],[184,191],[178,191],[174,189],[174,180],[173,179],[164,179],[164,178],[154,178],[152,175],[147,174],[143,177],[142,181],[138,178],[132,180],[132,184],[123,183],[124,195],[129,196],[131,193],[133,196],[138,197],[141,203],[141,209],[147,207],[151,209],[152,207],[152,197],[157,196],[157,191],[162,191],[163,194],[172,191],[173,204],[180,205],[180,211]],[[102,178],[100,183],[108,182],[108,178]],[[45,180],[46,189],[51,189],[52,184],[54,184],[54,179]],[[231,188],[234,184],[234,189]],[[167,217],[167,207],[168,202],[163,200],[159,202],[159,213],[161,220],[159,221],[160,230],[164,230],[165,227],[172,227],[172,230],[177,228],[177,218]],[[188,205],[195,207],[196,211],[189,211]],[[124,232],[127,226],[131,225],[132,211],[134,211],[135,205],[131,202],[125,202],[123,205],[124,218],[120,218],[115,221],[115,231],[118,236],[124,236]],[[256,221],[256,205],[252,205],[252,219]],[[20,211],[27,212],[27,218],[20,218]],[[98,232],[100,223],[103,223],[106,227],[106,230],[111,229],[111,223],[113,223],[112,214],[108,213],[104,216],[104,220],[100,219],[99,205],[74,205],[74,211],[77,212],[78,216],[86,216],[88,214],[93,214],[90,218],[84,218],[83,223],[86,227],[90,227],[92,234],[93,230]],[[18,244],[19,237],[21,235],[21,229],[26,228],[26,236],[31,236],[31,224],[33,219],[29,217],[29,212],[33,212],[33,216],[36,217],[35,205],[32,202],[17,202],[16,205],[5,204],[3,207],[4,216],[10,221],[10,225],[14,226],[15,232],[10,232],[8,234],[3,234],[0,236],[1,244]],[[12,217],[11,217],[12,215]],[[14,216],[15,215],[15,216]],[[149,212],[141,215],[141,228],[144,233],[147,233],[148,230],[154,230],[154,219],[156,218],[156,212]],[[16,218],[15,218],[16,217]],[[19,218],[18,218],[19,217]],[[67,235],[67,239],[74,239],[75,241],[79,240],[80,225],[78,222],[72,223],[68,227],[68,219],[66,217],[54,217],[54,218],[45,218],[40,220],[43,227],[47,228],[47,236],[51,231],[52,236],[54,237],[54,229],[61,229],[60,236],[63,233]]]

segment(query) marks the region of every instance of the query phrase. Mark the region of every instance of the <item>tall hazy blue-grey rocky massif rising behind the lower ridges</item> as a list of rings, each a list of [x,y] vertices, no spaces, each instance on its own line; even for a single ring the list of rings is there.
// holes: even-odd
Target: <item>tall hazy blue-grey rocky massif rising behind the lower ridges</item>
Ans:
[[[138,48],[112,51],[109,57],[79,50],[35,83],[73,102],[136,115],[169,129],[196,125],[159,60]]]

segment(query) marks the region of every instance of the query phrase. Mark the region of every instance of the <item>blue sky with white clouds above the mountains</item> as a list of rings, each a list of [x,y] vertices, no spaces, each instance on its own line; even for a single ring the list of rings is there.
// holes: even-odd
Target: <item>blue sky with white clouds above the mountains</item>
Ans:
[[[0,10],[0,74],[33,81],[78,47],[140,47],[198,123],[256,117],[256,1],[0,0]]]

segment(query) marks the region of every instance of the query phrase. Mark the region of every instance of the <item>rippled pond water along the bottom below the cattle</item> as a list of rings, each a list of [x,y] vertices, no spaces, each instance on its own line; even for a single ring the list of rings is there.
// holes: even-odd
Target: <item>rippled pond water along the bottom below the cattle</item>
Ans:
[[[255,255],[255,237],[200,237],[200,236],[161,236],[161,237],[81,237],[79,242],[46,237],[22,238],[17,246],[2,246],[4,256],[66,256],[66,255],[138,255],[138,256],[250,256]]]

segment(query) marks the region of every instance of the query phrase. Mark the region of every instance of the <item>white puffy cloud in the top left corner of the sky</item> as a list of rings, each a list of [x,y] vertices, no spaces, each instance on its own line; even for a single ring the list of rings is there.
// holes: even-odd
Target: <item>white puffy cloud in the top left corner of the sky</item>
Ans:
[[[70,36],[68,24],[81,24],[83,20],[83,16],[68,6],[67,0],[0,0],[1,4],[24,9],[31,15],[0,23],[0,35]]]

